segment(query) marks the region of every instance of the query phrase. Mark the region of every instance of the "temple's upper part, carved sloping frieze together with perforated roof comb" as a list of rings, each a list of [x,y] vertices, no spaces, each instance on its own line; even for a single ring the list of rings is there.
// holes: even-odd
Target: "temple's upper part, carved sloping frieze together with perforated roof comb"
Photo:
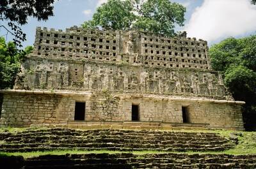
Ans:
[[[139,31],[72,30],[37,29],[35,50],[22,64],[17,89],[107,89],[232,99],[220,73],[209,66],[205,41]]]

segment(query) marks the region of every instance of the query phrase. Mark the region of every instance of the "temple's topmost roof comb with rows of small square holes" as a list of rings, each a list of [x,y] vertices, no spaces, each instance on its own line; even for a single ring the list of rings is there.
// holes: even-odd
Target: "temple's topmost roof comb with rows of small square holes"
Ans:
[[[141,31],[36,28],[34,57],[211,69],[207,41]]]

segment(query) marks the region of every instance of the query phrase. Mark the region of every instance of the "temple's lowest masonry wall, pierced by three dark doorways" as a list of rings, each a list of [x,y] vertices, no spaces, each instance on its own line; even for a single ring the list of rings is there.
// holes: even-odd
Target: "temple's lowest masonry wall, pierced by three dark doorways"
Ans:
[[[131,121],[132,104],[139,105],[140,121],[182,123],[182,107],[188,107],[191,123],[212,128],[243,129],[241,103],[234,101],[163,98],[141,94],[4,94],[1,126],[68,124],[74,121],[75,103],[85,102],[85,121]]]

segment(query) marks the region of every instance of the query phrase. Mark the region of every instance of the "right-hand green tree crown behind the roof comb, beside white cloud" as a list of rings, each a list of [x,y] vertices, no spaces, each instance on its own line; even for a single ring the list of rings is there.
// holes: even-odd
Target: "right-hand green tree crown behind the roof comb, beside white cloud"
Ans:
[[[138,8],[139,17],[133,27],[173,36],[175,24],[184,26],[185,12],[184,6],[169,0],[148,0]]]

